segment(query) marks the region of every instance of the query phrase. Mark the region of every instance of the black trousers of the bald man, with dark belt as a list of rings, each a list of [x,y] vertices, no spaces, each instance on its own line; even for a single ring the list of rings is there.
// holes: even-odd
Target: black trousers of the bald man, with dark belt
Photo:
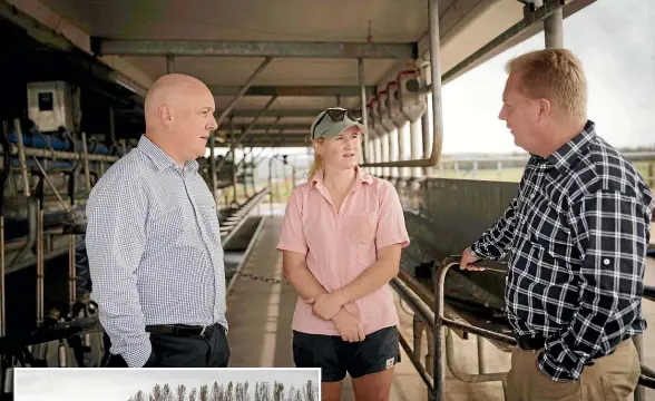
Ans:
[[[216,323],[203,335],[150,333],[153,352],[143,368],[226,368],[229,344],[225,327]],[[105,334],[104,368],[127,368],[120,355],[109,352],[111,343]]]

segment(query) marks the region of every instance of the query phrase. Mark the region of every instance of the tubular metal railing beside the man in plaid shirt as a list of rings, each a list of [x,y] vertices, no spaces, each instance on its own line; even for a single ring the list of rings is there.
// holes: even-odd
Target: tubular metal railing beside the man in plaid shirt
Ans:
[[[459,265],[461,255],[448,256],[434,268],[432,276],[433,294],[430,294],[426,286],[418,283],[416,278],[403,271],[390,282],[390,285],[399,294],[401,300],[413,311],[413,348],[410,346],[409,341],[402,333],[399,333],[399,341],[426,383],[428,399],[430,401],[442,401],[446,399],[446,366],[448,366],[452,376],[459,381],[465,383],[501,382],[504,392],[506,392],[506,376],[508,372],[485,372],[481,339],[510,346],[517,345],[515,338],[471,325],[465,319],[461,319],[456,311],[447,306],[444,302],[446,276],[450,267]],[[476,265],[485,267],[485,271],[488,272],[507,274],[507,264],[501,262],[479,261]],[[655,302],[655,287],[644,286],[643,297]],[[429,304],[433,304],[433,309]],[[428,335],[427,338],[428,350],[424,355],[424,362],[421,362],[421,341],[423,333],[428,330],[431,330],[432,335]],[[465,373],[457,366],[452,340],[453,331],[456,330],[478,335],[478,374]],[[641,339],[634,338],[633,341],[639,351]],[[643,388],[655,389],[655,370],[644,365],[642,353],[638,353],[642,372],[637,389],[635,389],[635,401],[644,400]]]

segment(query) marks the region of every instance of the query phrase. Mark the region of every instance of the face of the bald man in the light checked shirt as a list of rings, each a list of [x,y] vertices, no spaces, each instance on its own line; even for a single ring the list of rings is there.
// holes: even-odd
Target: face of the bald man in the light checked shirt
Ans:
[[[187,160],[205,155],[209,133],[217,128],[214,118],[214,96],[206,87],[198,87],[185,96],[175,123],[177,145]]]

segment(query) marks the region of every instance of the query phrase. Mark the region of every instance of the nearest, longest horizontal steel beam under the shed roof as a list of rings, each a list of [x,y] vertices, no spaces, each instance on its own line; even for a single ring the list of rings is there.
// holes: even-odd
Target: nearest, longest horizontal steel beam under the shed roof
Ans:
[[[135,40],[91,38],[99,56],[292,57],[414,60],[417,43]]]

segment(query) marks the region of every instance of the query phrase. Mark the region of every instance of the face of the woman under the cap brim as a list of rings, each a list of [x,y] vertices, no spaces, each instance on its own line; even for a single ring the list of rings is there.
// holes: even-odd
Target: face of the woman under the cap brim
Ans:
[[[323,158],[326,168],[354,168],[362,151],[362,134],[358,127],[350,127],[332,139],[316,143],[314,149]]]

